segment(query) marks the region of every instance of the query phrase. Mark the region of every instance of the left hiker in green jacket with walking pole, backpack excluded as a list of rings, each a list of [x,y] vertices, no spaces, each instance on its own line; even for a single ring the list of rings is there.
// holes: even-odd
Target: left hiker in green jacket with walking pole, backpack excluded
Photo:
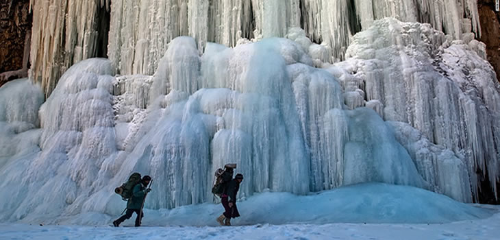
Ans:
[[[123,221],[132,217],[133,213],[137,214],[136,227],[140,226],[141,219],[142,217],[144,217],[144,213],[142,213],[141,211],[142,203],[144,202],[146,193],[149,193],[151,191],[151,189],[146,189],[149,182],[151,182],[151,177],[144,176],[142,180],[138,184],[136,184],[136,186],[134,186],[132,197],[130,197],[127,202],[127,212],[125,212],[125,215],[114,220],[113,226],[120,226]]]

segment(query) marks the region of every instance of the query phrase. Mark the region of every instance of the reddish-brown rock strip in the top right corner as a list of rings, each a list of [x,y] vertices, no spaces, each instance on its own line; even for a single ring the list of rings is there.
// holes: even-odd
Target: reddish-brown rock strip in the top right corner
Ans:
[[[500,12],[495,12],[495,0],[477,1],[481,21],[481,40],[486,43],[488,61],[492,64],[500,82]]]

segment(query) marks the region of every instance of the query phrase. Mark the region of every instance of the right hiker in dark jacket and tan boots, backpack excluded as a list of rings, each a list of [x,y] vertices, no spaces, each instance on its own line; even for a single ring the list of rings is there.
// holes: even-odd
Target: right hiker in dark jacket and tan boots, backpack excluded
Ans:
[[[225,193],[221,195],[221,202],[225,212],[217,218],[218,223],[221,225],[231,226],[231,219],[240,217],[238,207],[236,207],[236,195],[240,190],[242,180],[243,175],[238,173],[233,180],[227,182]]]

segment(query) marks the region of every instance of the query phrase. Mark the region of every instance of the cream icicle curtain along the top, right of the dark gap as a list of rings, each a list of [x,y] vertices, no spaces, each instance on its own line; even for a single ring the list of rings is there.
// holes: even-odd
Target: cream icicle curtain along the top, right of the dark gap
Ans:
[[[153,74],[166,44],[177,36],[192,36],[199,49],[207,42],[234,47],[240,38],[283,37],[291,27],[302,27],[330,49],[332,62],[344,58],[351,36],[386,16],[431,23],[455,39],[480,34],[476,5],[476,0],[117,0],[109,56],[121,73]]]

